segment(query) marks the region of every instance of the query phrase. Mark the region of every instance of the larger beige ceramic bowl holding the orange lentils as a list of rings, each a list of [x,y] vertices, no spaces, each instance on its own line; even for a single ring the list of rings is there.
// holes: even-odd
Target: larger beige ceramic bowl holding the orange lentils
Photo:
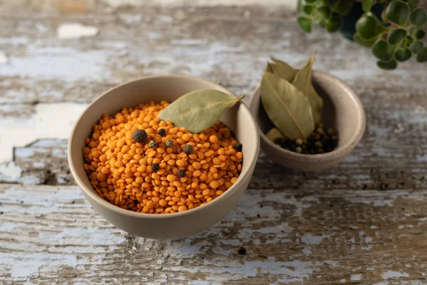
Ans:
[[[149,101],[172,102],[198,89],[216,89],[232,94],[221,86],[190,76],[152,76],[124,83],[108,90],[86,108],[78,118],[68,142],[68,163],[83,195],[93,209],[116,227],[140,237],[175,239],[196,234],[219,222],[233,209],[251,180],[258,157],[259,136],[255,120],[245,104],[227,109],[221,122],[231,128],[243,144],[243,167],[236,183],[220,197],[201,207],[173,214],[143,214],[122,209],[102,199],[93,190],[83,168],[84,141],[102,114],[114,114],[123,107],[134,107]]]

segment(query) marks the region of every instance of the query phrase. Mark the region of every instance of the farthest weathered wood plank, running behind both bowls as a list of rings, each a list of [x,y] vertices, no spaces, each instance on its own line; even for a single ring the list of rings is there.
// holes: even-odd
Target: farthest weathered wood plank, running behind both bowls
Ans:
[[[101,8],[85,14],[21,8],[0,14],[2,49],[10,61],[0,73],[2,103],[88,102],[122,81],[161,73],[201,76],[251,93],[268,56],[302,64],[312,50],[318,52],[315,67],[352,86],[421,92],[426,78],[426,67],[413,70],[411,63],[399,72],[380,71],[369,50],[339,34],[317,30],[306,36],[280,7]],[[100,34],[58,39],[58,26],[70,21],[97,26]]]

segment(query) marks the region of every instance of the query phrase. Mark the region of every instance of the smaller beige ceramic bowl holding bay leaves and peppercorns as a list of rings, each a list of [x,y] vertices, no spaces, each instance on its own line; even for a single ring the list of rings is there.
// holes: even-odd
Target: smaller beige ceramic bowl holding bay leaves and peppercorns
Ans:
[[[292,170],[317,171],[337,165],[352,152],[364,133],[363,105],[352,88],[338,78],[320,71],[313,72],[312,83],[323,98],[322,121],[325,127],[338,131],[338,146],[332,152],[302,155],[275,145],[265,136],[265,133],[273,128],[273,123],[260,103],[259,87],[248,102],[249,109],[258,123],[261,148],[271,160]]]

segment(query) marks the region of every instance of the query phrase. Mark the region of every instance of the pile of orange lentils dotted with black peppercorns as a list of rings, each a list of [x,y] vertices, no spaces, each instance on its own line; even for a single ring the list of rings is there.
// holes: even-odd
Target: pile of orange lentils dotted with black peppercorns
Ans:
[[[167,214],[211,202],[236,182],[241,143],[221,122],[199,134],[157,118],[169,103],[102,115],[83,148],[100,197],[123,209]]]

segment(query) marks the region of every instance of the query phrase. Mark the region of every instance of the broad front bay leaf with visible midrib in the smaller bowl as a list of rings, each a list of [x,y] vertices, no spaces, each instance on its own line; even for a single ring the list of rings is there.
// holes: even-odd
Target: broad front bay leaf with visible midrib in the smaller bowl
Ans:
[[[261,102],[271,122],[288,138],[307,138],[315,129],[310,103],[291,83],[264,73]]]

